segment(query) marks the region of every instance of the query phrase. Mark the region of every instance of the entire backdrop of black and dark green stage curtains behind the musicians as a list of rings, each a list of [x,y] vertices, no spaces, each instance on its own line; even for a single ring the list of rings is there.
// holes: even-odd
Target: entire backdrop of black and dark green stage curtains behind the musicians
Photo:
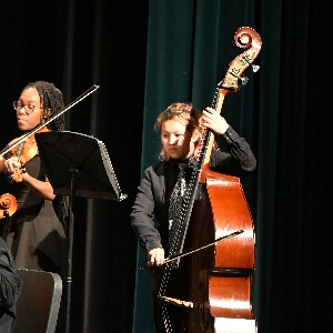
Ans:
[[[249,83],[226,95],[223,113],[258,158],[243,185],[256,231],[259,332],[333,331],[325,6],[309,0],[0,4],[1,147],[18,134],[12,101],[28,82],[54,82],[67,103],[100,84],[67,118],[71,131],[105,143],[128,194],[122,202],[75,201],[72,332],[154,332],[149,274],[138,271],[145,254],[129,221],[141,172],[160,149],[153,120],[174,101],[211,104],[215,84],[240,53],[232,38],[243,26],[261,34],[255,61],[261,69],[248,70]]]

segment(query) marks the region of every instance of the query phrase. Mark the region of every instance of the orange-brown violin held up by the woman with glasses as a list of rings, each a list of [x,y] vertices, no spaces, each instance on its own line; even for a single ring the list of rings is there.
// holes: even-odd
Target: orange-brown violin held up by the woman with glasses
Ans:
[[[24,164],[38,154],[38,147],[37,147],[34,134],[48,132],[48,131],[49,129],[46,125],[43,125],[37,132],[28,137],[26,141],[20,142],[18,145],[11,149],[12,157],[17,157],[21,164],[21,167],[14,169],[14,172],[11,175],[11,179],[13,181],[18,183],[22,181],[22,175],[26,172]]]

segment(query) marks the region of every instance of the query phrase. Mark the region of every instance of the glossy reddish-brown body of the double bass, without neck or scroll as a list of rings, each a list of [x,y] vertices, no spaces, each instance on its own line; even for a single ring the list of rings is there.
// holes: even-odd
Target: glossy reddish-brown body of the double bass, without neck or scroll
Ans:
[[[200,199],[189,226],[195,248],[238,230],[234,238],[191,255],[189,299],[183,332],[256,332],[251,306],[254,270],[254,231],[251,213],[238,178],[203,168]],[[236,326],[243,331],[232,331]],[[233,329],[231,329],[233,327]]]

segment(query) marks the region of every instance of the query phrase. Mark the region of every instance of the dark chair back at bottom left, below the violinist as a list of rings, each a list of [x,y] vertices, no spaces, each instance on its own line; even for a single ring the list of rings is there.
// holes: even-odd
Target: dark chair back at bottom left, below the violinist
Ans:
[[[12,332],[53,333],[62,294],[60,275],[34,270],[18,270],[18,273],[23,287]]]

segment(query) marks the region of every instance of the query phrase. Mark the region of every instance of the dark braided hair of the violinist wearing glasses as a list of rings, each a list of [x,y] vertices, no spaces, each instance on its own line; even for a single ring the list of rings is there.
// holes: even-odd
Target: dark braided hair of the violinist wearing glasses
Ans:
[[[47,81],[36,81],[28,83],[23,90],[28,88],[37,89],[41,104],[44,109],[43,118],[47,121],[50,117],[54,117],[64,109],[62,92],[53,84]],[[64,114],[59,115],[48,123],[51,131],[63,131],[65,129]]]

